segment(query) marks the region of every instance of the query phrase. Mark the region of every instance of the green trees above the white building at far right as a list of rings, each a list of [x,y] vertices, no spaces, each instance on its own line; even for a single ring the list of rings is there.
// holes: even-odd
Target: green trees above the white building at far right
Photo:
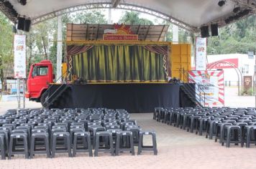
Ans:
[[[219,37],[209,37],[208,54],[247,54],[256,49],[256,16],[249,16],[219,29]]]

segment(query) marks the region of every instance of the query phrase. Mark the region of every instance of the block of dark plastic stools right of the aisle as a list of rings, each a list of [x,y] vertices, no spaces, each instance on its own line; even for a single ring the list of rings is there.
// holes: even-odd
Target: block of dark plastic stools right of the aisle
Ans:
[[[234,145],[250,148],[256,144],[256,109],[255,107],[156,107],[153,119],[180,129],[206,135],[227,148]]]

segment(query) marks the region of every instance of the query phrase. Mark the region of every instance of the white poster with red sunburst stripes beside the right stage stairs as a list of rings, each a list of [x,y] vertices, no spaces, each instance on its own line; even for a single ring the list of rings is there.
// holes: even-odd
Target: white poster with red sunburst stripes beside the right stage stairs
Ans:
[[[224,71],[189,71],[189,82],[196,83],[196,93],[205,95],[206,107],[224,106]],[[204,102],[204,100],[203,100]],[[202,105],[204,105],[204,103]]]

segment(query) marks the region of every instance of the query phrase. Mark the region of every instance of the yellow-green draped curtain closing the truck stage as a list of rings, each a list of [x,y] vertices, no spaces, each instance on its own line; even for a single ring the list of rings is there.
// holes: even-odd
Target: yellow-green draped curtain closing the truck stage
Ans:
[[[88,82],[165,81],[163,57],[138,45],[95,45],[72,56],[72,74]]]

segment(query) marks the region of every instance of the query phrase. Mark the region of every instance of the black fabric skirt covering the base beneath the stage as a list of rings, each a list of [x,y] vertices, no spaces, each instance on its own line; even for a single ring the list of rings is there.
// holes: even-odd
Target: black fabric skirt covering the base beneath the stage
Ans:
[[[179,84],[128,83],[128,84],[64,84],[65,95],[51,108],[107,107],[125,109],[130,113],[152,112],[155,107],[186,107],[186,95]],[[60,84],[52,84],[50,95]]]

